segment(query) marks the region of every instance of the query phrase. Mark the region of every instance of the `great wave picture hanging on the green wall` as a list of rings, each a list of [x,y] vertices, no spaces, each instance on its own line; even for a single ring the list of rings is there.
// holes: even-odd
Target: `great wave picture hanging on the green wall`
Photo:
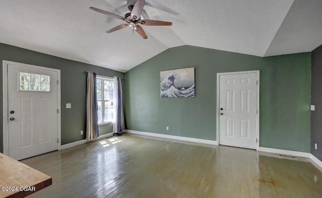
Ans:
[[[160,72],[161,98],[195,97],[195,68]]]

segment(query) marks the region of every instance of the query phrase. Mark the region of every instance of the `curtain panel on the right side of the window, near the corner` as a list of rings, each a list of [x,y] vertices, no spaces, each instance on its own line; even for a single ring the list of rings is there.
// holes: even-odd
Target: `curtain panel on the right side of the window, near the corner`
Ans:
[[[123,114],[123,96],[122,83],[119,77],[114,77],[114,124],[113,133],[120,134],[125,129],[124,114]]]

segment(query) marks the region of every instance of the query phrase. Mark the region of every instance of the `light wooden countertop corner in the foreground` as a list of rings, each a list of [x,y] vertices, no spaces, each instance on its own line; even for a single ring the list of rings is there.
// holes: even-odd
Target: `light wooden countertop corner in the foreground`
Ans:
[[[51,184],[50,176],[0,153],[0,197],[25,197]]]

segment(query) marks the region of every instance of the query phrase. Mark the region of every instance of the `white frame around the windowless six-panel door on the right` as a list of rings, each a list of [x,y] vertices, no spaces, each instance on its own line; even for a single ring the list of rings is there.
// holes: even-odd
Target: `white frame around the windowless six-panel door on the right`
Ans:
[[[219,145],[219,77],[225,76],[225,75],[237,75],[237,74],[256,74],[256,108],[257,108],[257,114],[256,114],[256,150],[259,151],[260,148],[260,71],[259,70],[253,70],[253,71],[241,71],[241,72],[225,72],[225,73],[217,73],[217,106],[216,106],[216,140],[217,144]]]

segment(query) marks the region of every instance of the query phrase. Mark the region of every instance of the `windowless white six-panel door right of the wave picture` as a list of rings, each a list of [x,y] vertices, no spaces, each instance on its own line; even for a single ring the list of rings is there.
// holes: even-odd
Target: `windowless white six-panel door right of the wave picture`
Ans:
[[[257,149],[258,72],[219,74],[219,144]]]

